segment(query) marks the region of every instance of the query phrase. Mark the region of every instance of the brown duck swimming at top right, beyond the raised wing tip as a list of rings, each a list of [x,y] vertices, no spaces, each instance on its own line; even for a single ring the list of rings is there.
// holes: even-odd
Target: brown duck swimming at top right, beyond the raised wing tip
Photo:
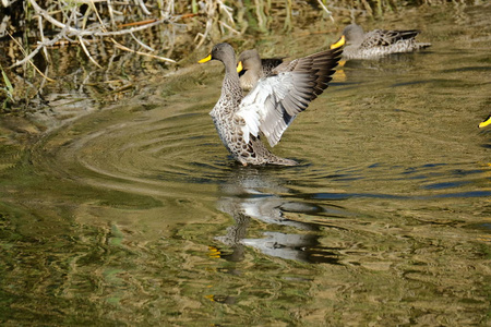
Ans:
[[[431,44],[417,43],[415,40],[419,33],[420,31],[417,29],[374,29],[364,33],[360,25],[351,24],[343,31],[343,35],[346,37],[343,58],[346,60],[374,59],[385,55],[411,52],[430,47]],[[331,46],[331,48],[335,47],[338,47],[337,43]]]

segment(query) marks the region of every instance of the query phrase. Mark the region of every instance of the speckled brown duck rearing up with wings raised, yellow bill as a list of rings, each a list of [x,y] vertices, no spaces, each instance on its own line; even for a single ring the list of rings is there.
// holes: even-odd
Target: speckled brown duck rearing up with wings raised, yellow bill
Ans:
[[[260,131],[275,146],[297,114],[327,88],[342,52],[336,48],[284,63],[280,72],[273,70],[244,97],[233,48],[215,45],[199,62],[218,60],[225,65],[221,95],[209,114],[232,157],[243,166],[298,165],[272,154],[261,142]]]

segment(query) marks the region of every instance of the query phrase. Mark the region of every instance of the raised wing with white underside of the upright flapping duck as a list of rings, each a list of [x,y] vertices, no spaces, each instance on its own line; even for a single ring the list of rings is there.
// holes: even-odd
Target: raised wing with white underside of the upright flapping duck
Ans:
[[[283,63],[273,75],[261,78],[242,99],[237,117],[244,120],[244,141],[261,131],[275,146],[297,114],[327,88],[340,49],[326,50]]]

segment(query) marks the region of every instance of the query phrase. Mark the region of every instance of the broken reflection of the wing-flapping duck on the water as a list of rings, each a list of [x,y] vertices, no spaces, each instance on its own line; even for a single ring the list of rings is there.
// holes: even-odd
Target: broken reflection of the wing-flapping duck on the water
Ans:
[[[225,235],[215,239],[230,251],[223,251],[211,246],[211,255],[231,262],[244,258],[247,246],[254,247],[262,253],[307,263],[338,264],[335,249],[325,249],[319,242],[319,229],[326,223],[303,222],[286,217],[286,213],[300,215],[333,215],[343,216],[345,210],[338,207],[321,207],[279,194],[291,194],[291,190],[282,185],[280,181],[271,175],[271,169],[254,167],[237,167],[229,179],[221,185],[224,195],[219,198],[217,207],[220,211],[230,215],[235,225],[227,228]],[[264,238],[247,238],[251,219],[267,225],[285,226],[286,229],[297,229],[299,233],[264,231]]]

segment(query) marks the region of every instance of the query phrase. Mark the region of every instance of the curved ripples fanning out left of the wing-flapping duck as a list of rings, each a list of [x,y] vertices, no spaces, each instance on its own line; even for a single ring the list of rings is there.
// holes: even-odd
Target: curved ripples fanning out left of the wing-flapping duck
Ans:
[[[203,112],[111,110],[52,133],[34,158],[53,175],[87,184],[153,195],[192,192],[185,183],[224,179],[232,167],[215,133]]]

